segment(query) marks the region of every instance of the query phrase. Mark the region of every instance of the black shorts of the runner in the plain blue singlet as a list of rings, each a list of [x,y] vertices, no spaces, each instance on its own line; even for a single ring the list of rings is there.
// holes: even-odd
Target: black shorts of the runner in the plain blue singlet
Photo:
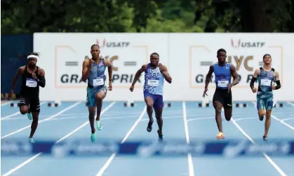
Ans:
[[[232,108],[232,90],[227,93],[227,89],[215,89],[213,102],[221,102],[225,108]]]

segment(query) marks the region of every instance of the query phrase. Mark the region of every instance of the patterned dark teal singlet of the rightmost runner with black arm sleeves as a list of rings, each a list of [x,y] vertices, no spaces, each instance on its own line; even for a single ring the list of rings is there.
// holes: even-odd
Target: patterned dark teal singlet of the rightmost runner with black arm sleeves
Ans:
[[[258,95],[272,95],[272,82],[274,81],[274,68],[269,72],[260,67],[258,75]]]

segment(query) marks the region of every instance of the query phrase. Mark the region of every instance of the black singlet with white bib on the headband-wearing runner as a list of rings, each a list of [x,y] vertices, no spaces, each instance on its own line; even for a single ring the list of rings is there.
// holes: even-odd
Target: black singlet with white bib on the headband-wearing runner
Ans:
[[[39,76],[39,67],[36,66],[36,71],[34,74],[36,74],[36,77]],[[39,95],[39,85],[36,82],[35,79],[33,79],[33,76],[31,73],[27,72],[27,66],[25,66],[25,72],[22,74],[22,82],[20,86],[20,95]]]

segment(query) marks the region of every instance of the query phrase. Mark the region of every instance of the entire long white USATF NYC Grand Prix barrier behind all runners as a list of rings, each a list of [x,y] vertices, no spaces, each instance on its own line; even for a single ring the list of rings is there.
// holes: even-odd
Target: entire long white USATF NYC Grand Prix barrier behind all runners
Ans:
[[[227,50],[241,78],[232,88],[233,100],[255,100],[249,88],[253,72],[262,66],[262,55],[272,55],[272,67],[280,74],[282,88],[274,91],[276,100],[294,100],[294,65],[291,51],[294,34],[154,34],[154,33],[35,33],[34,51],[41,53],[37,65],[46,71],[46,88],[41,88],[41,100],[86,100],[87,83],[81,81],[82,63],[91,57],[91,45],[100,45],[102,57],[114,67],[113,90],[105,100],[143,100],[142,83],[129,88],[137,70],[149,62],[149,55],[159,53],[160,62],[168,67],[173,83],[165,83],[164,100],[202,100],[209,65],[218,62],[217,50]],[[108,71],[105,70],[108,86]],[[208,99],[212,100],[215,83],[210,83]],[[257,86],[257,83],[255,83]]]

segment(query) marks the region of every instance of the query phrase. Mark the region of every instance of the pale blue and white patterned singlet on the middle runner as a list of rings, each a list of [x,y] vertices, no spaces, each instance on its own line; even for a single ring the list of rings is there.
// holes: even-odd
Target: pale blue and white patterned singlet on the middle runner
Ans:
[[[164,77],[159,67],[151,69],[150,64],[148,64],[145,70],[144,91],[148,91],[154,95],[163,95],[163,83]]]

